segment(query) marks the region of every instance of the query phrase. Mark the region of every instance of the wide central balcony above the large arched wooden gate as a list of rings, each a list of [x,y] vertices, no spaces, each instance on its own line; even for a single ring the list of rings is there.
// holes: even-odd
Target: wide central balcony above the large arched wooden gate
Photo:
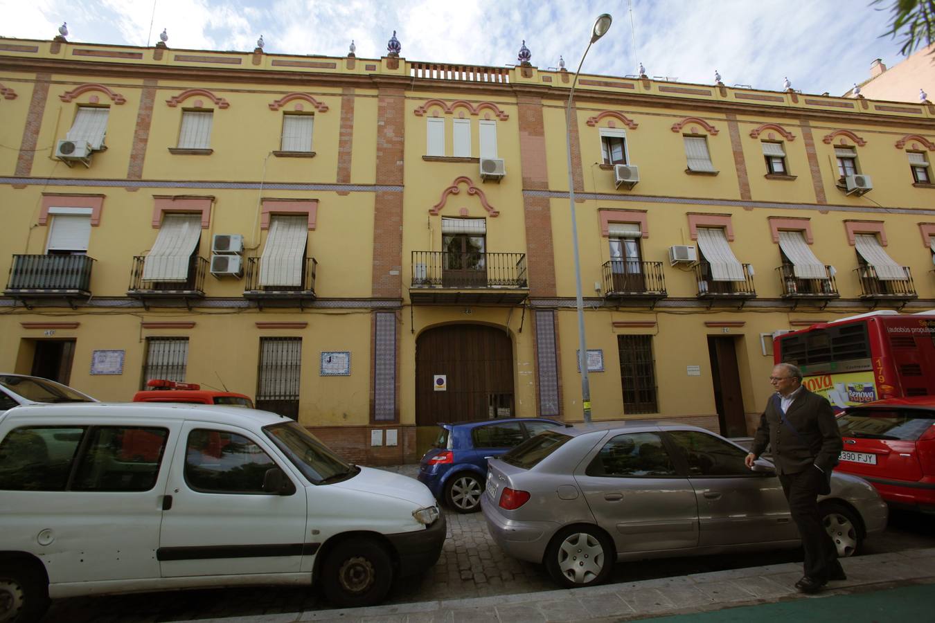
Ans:
[[[413,304],[520,304],[525,253],[412,251]]]

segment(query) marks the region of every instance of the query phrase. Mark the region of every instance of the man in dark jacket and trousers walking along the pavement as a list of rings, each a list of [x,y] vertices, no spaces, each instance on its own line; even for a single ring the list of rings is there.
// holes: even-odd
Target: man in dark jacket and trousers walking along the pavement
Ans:
[[[828,580],[847,579],[818,512],[818,495],[829,492],[831,470],[841,454],[841,432],[831,404],[802,387],[802,373],[796,366],[780,363],[772,369],[770,383],[776,393],[760,417],[746,464],[752,467],[767,445],[772,448],[772,460],[805,550],[805,574],[796,588],[814,593]]]

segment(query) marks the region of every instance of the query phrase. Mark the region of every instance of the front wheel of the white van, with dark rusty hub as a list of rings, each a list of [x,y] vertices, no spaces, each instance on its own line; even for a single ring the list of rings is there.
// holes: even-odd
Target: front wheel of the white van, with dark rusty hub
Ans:
[[[365,606],[383,601],[393,584],[393,561],[383,545],[355,538],[328,553],[322,568],[324,596],[334,605]]]

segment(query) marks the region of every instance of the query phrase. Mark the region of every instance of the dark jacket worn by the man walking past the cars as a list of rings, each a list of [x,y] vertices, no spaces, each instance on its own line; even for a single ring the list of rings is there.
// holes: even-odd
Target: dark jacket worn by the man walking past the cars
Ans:
[[[831,470],[843,445],[827,399],[805,388],[798,392],[785,412],[785,418],[798,434],[782,422],[778,406],[779,401],[770,396],[750,451],[758,457],[769,445],[780,474],[798,474],[812,465],[826,473]]]

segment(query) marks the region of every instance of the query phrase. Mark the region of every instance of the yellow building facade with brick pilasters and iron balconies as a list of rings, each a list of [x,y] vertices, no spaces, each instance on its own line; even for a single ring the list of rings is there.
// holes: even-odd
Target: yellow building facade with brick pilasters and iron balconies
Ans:
[[[352,460],[583,418],[571,76],[0,41],[0,371],[252,396]],[[935,307],[935,106],[583,76],[595,419],[729,435],[772,333]]]

